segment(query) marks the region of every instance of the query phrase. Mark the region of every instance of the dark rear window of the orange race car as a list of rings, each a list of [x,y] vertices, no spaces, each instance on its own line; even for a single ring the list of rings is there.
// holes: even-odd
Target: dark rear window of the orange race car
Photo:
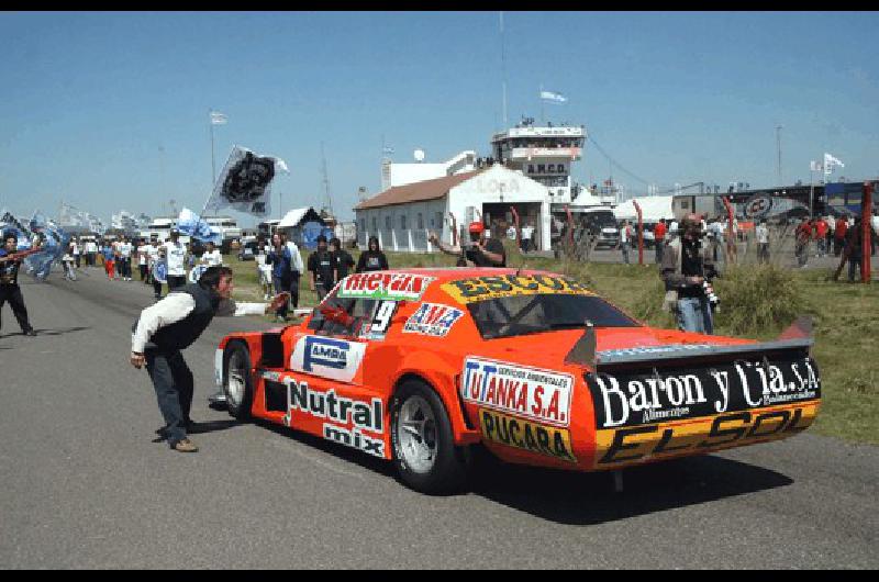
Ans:
[[[468,305],[482,339],[596,327],[638,327],[636,321],[601,298],[538,294],[489,299]]]

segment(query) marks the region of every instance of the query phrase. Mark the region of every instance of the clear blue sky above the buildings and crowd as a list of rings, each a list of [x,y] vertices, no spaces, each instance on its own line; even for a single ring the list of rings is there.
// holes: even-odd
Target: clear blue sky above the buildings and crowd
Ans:
[[[808,182],[830,152],[879,176],[879,14],[504,12],[509,119],[585,124],[616,164],[660,187]],[[489,153],[502,125],[498,12],[2,13],[0,206],[200,210],[234,144],[290,167],[283,208],[376,193],[380,149],[427,161]],[[162,150],[160,150],[162,149]],[[218,169],[219,171],[219,169]],[[638,179],[587,145],[575,178]],[[252,223],[252,221],[244,221]]]

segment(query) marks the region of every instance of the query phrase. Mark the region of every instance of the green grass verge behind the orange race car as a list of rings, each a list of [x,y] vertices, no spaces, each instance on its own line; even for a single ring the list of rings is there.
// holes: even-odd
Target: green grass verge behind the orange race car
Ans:
[[[455,257],[443,254],[388,253],[392,268],[452,267]],[[538,257],[524,257],[508,248],[508,265],[563,272],[589,283],[596,292],[610,300],[634,317],[659,327],[674,327],[671,316],[661,311],[663,286],[654,266],[582,264]],[[305,258],[305,257],[303,257]],[[355,253],[356,260],[356,253]],[[238,262],[226,257],[235,271],[236,298],[262,301],[257,289],[256,266],[253,261]],[[753,276],[743,268],[743,276]],[[759,273],[758,273],[759,275]],[[770,339],[793,321],[795,313],[812,315],[815,322],[813,356],[819,363],[823,384],[823,404],[812,428],[815,433],[847,440],[879,445],[879,288],[876,284],[849,284],[827,281],[824,270],[785,271],[787,282],[783,296],[774,296],[771,288],[753,291],[765,293],[767,299],[752,298],[724,310],[724,298],[742,294],[735,284],[750,284],[747,277],[734,281],[716,282],[722,307],[716,318],[715,333],[737,335],[754,339]],[[744,283],[743,283],[744,281]],[[759,283],[759,280],[756,281]],[[782,283],[783,283],[782,282]],[[781,286],[782,283],[779,283]],[[755,286],[756,287],[756,286]],[[750,301],[753,304],[748,304]],[[775,301],[781,303],[781,321],[733,333],[741,328],[741,315]],[[303,277],[300,306],[316,303]],[[783,307],[792,307],[789,314]]]

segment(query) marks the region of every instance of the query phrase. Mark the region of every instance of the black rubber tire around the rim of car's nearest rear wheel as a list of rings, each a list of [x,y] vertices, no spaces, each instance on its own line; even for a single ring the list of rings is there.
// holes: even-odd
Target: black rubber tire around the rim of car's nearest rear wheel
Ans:
[[[420,470],[409,462],[409,454],[404,450],[407,445],[399,427],[401,411],[408,403],[408,411],[413,405],[426,404],[433,415],[431,433],[434,437],[435,455],[432,466],[426,470]],[[415,491],[429,495],[454,494],[460,492],[467,481],[469,451],[455,446],[452,423],[443,401],[424,382],[404,381],[391,400],[391,449],[400,480]]]

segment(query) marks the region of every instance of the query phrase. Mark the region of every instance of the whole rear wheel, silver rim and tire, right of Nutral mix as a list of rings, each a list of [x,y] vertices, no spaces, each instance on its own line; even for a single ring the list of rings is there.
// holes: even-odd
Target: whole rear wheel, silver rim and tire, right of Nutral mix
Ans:
[[[391,402],[393,461],[400,480],[431,495],[457,492],[467,479],[466,451],[455,446],[443,401],[409,380]]]

